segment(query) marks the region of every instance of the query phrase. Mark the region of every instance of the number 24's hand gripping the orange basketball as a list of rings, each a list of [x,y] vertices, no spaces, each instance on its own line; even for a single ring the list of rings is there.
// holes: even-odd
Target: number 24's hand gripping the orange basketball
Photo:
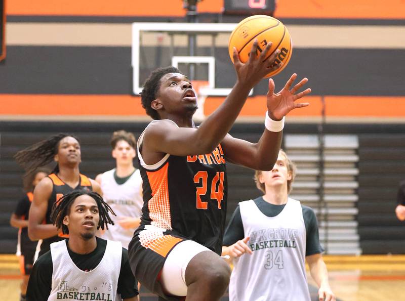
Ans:
[[[277,55],[280,51],[277,49],[269,55],[270,47],[269,42],[259,57],[256,56],[258,40],[253,42],[253,46],[249,55],[249,60],[244,64],[239,60],[239,54],[236,48],[233,48],[233,65],[236,70],[237,79],[240,83],[246,84],[249,89],[252,89],[263,77],[282,66],[282,63],[273,65]]]

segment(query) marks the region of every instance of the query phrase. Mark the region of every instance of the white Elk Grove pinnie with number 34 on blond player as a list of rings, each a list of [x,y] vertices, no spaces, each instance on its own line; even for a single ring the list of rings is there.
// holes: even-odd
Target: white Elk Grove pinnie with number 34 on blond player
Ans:
[[[240,202],[239,209],[253,254],[234,260],[229,300],[310,301],[301,203],[289,198],[272,218],[263,214],[253,200]]]

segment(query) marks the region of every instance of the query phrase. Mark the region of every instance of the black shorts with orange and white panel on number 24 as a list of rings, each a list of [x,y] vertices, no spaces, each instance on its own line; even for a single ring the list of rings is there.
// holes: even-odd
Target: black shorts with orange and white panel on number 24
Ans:
[[[141,234],[142,231],[145,232]],[[150,235],[146,234],[147,232],[150,232]],[[135,278],[148,290],[157,294],[159,300],[184,299],[184,297],[166,295],[159,281],[161,270],[170,251],[184,240],[188,238],[168,232],[158,236],[155,232],[145,230],[144,226],[141,226],[135,231],[128,246],[130,265]]]

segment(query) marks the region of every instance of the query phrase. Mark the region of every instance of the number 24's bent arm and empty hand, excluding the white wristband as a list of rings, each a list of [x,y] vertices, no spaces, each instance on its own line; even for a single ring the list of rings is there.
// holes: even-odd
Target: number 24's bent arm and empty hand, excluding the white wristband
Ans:
[[[303,108],[309,103],[296,103],[311,92],[306,89],[297,93],[308,81],[307,78],[301,79],[293,88],[291,88],[297,74],[293,74],[280,92],[274,93],[274,81],[269,79],[267,92],[268,116],[273,120],[281,120],[291,110]],[[226,159],[235,164],[243,165],[257,170],[271,170],[274,162],[277,160],[278,151],[281,146],[282,131],[270,132],[265,128],[262,137],[257,143],[250,143],[245,140],[236,139],[229,134],[221,142]]]

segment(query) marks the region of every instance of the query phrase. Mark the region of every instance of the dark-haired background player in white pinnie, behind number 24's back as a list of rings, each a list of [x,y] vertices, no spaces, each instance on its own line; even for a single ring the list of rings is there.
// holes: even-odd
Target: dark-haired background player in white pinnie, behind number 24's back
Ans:
[[[139,169],[134,167],[136,140],[132,133],[114,132],[111,138],[112,157],[116,167],[100,174],[96,181],[100,184],[104,201],[114,210],[114,225],[108,227],[101,237],[123,243],[128,249],[134,230],[141,222],[142,178]]]

